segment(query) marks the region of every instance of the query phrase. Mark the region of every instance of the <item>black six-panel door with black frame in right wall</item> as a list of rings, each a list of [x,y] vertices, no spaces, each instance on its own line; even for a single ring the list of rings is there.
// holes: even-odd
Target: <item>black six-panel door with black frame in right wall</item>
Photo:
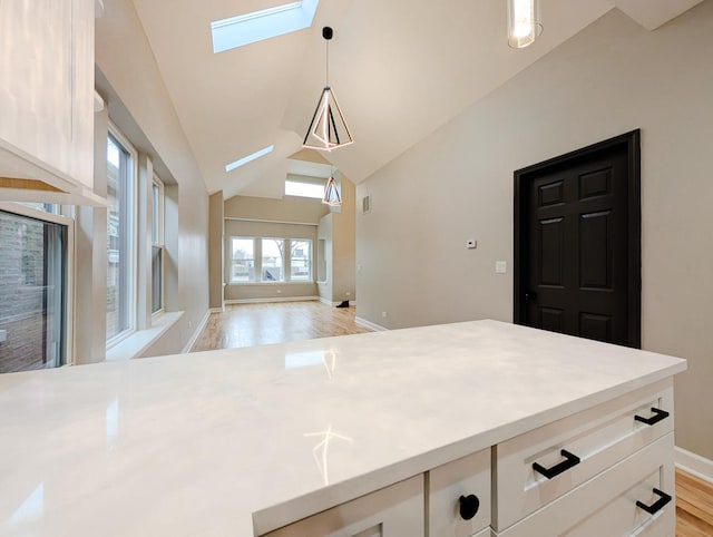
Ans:
[[[634,134],[516,173],[516,322],[639,346]]]

